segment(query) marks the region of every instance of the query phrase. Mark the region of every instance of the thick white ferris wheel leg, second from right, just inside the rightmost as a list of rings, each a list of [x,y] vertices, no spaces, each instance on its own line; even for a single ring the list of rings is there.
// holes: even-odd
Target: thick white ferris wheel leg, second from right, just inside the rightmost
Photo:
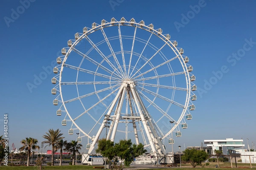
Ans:
[[[148,137],[149,144],[150,144],[151,149],[152,149],[152,151],[153,151],[153,153],[154,153],[154,156],[157,156],[157,151],[156,151],[155,145],[154,145],[154,143],[153,143],[153,140],[152,140],[151,135],[150,135],[149,130],[148,130],[147,120],[146,120],[145,117],[144,117],[144,114],[143,114],[143,112],[142,112],[142,110],[141,110],[139,101],[138,101],[138,99],[137,99],[137,95],[136,95],[136,92],[135,92],[135,89],[134,89],[134,84],[130,84],[130,86],[131,86],[131,94],[133,95],[134,102],[135,102],[135,104],[137,105],[137,108],[138,108],[138,110],[139,110],[141,122],[143,123],[144,129],[145,129],[145,132],[146,132],[146,135],[147,135],[147,137]]]

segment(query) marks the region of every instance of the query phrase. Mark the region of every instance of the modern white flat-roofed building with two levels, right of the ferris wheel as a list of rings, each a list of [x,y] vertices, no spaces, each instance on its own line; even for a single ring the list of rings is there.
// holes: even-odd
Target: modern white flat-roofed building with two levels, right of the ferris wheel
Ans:
[[[243,139],[204,140],[204,144],[207,144],[207,153],[212,155],[214,150],[222,150],[224,155],[228,155],[231,150],[244,148]]]

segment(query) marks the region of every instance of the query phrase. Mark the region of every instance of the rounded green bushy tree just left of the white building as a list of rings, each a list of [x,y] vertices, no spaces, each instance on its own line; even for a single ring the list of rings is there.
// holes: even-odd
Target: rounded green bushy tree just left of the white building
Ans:
[[[202,162],[208,158],[208,154],[204,150],[186,149],[183,151],[181,159],[196,167],[198,164],[202,166]]]

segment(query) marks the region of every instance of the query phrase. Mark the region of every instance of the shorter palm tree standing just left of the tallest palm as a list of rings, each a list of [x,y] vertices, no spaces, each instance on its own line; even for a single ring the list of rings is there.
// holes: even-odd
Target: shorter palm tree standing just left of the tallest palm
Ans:
[[[27,150],[28,151],[28,159],[27,159],[27,166],[29,166],[29,156],[31,155],[31,150],[32,149],[36,149],[39,148],[38,145],[36,145],[38,143],[37,139],[34,138],[26,138],[26,139],[22,139],[22,141],[20,141],[20,143],[23,145],[22,147],[20,147],[20,151],[23,150]]]

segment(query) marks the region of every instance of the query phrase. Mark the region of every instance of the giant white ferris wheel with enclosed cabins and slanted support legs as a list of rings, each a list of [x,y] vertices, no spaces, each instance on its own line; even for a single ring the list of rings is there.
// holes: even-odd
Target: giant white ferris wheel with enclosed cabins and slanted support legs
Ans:
[[[188,127],[197,97],[193,67],[161,28],[134,18],[84,27],[67,41],[52,78],[53,105],[68,133],[93,153],[99,139],[132,139],[166,154]],[[77,133],[78,134],[78,133]]]

